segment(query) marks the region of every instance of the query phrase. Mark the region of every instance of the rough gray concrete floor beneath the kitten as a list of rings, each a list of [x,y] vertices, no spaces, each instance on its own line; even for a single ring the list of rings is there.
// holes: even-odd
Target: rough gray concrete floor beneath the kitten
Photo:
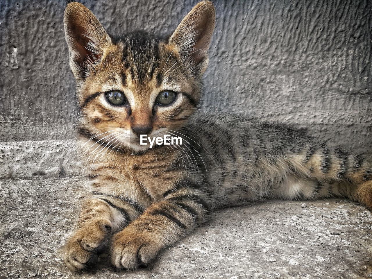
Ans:
[[[0,180],[0,279],[5,278],[372,278],[372,215],[340,199],[267,201],[219,211],[149,267],[72,273],[61,246],[84,180]]]

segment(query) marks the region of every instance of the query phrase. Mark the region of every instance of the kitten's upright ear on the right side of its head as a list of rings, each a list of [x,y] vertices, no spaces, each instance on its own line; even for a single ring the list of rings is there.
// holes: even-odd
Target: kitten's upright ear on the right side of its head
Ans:
[[[215,25],[215,9],[211,1],[198,3],[185,16],[169,42],[176,44],[181,55],[190,59],[201,74],[208,66],[208,49]]]

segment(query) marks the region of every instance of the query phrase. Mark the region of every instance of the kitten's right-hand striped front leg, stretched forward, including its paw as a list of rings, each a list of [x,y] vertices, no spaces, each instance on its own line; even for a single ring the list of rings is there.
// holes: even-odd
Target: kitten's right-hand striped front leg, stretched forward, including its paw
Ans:
[[[173,193],[153,203],[128,227],[113,235],[112,264],[136,269],[150,263],[159,251],[201,225],[210,208],[208,195],[190,192]]]

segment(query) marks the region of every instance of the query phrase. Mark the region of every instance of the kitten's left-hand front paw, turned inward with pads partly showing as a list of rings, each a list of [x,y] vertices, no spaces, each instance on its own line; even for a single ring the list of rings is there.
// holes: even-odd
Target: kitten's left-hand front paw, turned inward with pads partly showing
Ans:
[[[84,269],[96,262],[98,253],[108,242],[109,227],[83,227],[67,240],[63,250],[63,259],[69,269]]]

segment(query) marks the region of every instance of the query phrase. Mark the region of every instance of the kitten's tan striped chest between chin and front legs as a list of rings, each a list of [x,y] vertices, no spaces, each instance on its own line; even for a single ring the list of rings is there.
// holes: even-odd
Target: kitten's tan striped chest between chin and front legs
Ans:
[[[122,155],[116,160],[94,164],[90,176],[92,187],[109,195],[126,196],[141,203],[163,198],[182,179],[180,170],[171,169],[172,157]],[[109,158],[107,158],[109,159]]]

